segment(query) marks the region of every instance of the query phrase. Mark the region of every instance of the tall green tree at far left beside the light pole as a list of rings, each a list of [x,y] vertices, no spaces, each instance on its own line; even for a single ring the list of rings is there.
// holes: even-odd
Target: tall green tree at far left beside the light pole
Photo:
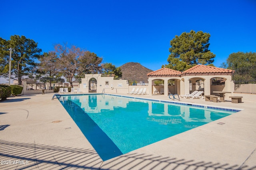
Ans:
[[[28,39],[23,35],[21,37],[12,35],[10,40],[0,38],[0,61],[4,61],[0,64],[0,72],[8,74],[10,51],[6,50],[11,47],[15,50],[12,54],[12,74],[18,76],[18,84],[20,85],[21,77],[30,74],[31,70],[36,67],[34,59],[38,59],[42,52],[42,49],[39,49],[37,45],[38,43],[34,40]]]

